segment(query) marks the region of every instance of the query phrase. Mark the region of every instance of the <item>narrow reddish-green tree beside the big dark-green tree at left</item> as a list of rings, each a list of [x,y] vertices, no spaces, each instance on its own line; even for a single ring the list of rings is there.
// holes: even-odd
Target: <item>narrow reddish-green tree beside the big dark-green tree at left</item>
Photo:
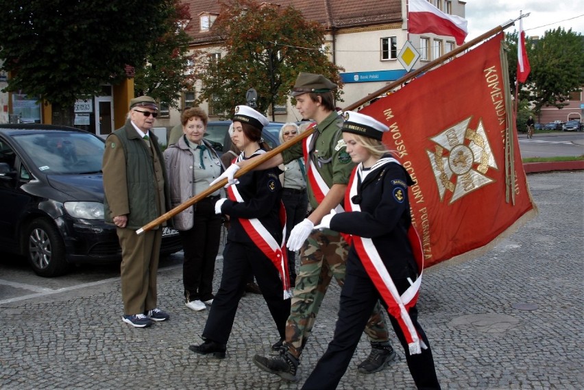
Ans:
[[[191,90],[196,81],[189,71],[194,61],[188,50],[189,27],[182,24],[191,14],[188,5],[178,1],[169,11],[165,34],[151,42],[145,62],[136,66],[134,88],[136,95],[148,95],[179,108],[180,93]]]

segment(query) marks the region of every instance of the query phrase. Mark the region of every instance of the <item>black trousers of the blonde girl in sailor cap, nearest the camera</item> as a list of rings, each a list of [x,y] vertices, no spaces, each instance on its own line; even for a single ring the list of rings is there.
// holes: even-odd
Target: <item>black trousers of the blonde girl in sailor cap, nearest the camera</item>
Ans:
[[[409,287],[409,283],[405,279],[394,280],[393,282],[396,284],[400,294]],[[302,387],[303,390],[337,389],[337,385],[339,385],[353,357],[359,339],[361,339],[367,319],[371,316],[373,306],[378,300],[382,302],[371,279],[359,271],[352,272],[350,263],[348,263],[347,278],[341,290],[339,319],[334,329],[333,339],[328,344],[328,349],[318,361],[312,374],[308,376]],[[440,389],[430,343],[428,343],[428,338],[424,330],[422,330],[422,326],[417,321],[417,309],[415,306],[410,308],[409,315],[420,339],[428,346],[426,350],[422,349],[422,354],[409,354],[402,328],[391,315],[389,315],[389,319],[404,348],[410,374],[418,389]]]

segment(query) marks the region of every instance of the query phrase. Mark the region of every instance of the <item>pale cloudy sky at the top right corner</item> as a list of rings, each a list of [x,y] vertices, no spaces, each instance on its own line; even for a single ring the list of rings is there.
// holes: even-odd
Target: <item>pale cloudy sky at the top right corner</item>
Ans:
[[[465,42],[494,29],[498,25],[530,13],[523,19],[526,36],[544,36],[557,27],[584,35],[584,4],[581,0],[465,0],[465,19],[468,21],[468,36]],[[580,3],[580,5],[576,5]],[[519,29],[519,21],[505,29]]]

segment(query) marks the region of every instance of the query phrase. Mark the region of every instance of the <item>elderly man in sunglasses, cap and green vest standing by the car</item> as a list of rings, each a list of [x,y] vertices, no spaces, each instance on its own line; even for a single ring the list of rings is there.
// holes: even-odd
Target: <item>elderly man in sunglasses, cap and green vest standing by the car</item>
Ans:
[[[170,317],[156,304],[162,228],[136,234],[169,209],[164,158],[149,132],[157,116],[151,97],[130,100],[127,121],[106,139],[102,164],[105,219],[116,226],[122,249],[122,320],[136,328]]]

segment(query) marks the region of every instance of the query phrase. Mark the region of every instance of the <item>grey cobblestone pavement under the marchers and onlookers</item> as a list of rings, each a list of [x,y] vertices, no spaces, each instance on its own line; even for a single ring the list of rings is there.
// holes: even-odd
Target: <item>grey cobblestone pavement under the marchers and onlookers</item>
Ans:
[[[443,389],[583,389],[584,172],[529,175],[539,215],[484,256],[427,269],[419,299]],[[215,283],[220,280],[217,263]],[[297,389],[332,337],[332,285],[300,365],[300,385],[260,371],[256,353],[278,337],[263,298],[241,300],[226,359],[198,356],[208,311],[182,302],[180,267],[160,271],[170,321],[121,321],[119,281],[0,307],[1,389]],[[365,339],[365,338],[363,338]],[[403,352],[360,374],[362,340],[339,389],[413,389]]]

